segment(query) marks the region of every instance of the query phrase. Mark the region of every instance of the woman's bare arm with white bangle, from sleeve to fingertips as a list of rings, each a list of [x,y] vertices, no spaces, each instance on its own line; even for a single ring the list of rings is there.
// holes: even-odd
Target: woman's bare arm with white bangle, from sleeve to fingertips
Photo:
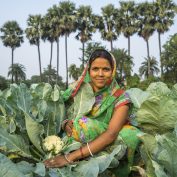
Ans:
[[[128,109],[129,107],[127,105],[116,109],[113,113],[107,130],[98,136],[95,140],[89,142],[89,148],[92,154],[103,150],[117,138],[119,131],[127,120]],[[85,145],[81,149],[67,154],[67,159],[64,156],[56,156],[53,159],[46,160],[45,165],[47,167],[62,167],[68,163],[68,160],[73,162],[90,155],[91,154],[89,152],[88,146]]]

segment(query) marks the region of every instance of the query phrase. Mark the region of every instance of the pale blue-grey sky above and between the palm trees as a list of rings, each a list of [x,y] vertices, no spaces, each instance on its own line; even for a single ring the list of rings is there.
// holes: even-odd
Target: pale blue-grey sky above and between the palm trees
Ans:
[[[127,0],[128,1],[128,0]],[[150,1],[150,0],[149,0]],[[15,20],[19,26],[24,30],[27,27],[27,18],[29,15],[45,15],[47,9],[54,4],[58,4],[60,0],[0,0],[0,27],[7,21]],[[115,7],[119,7],[119,0],[71,0],[75,3],[76,8],[80,5],[90,5],[93,13],[100,14],[101,7],[113,4]],[[142,2],[142,0],[135,0],[135,2]],[[177,4],[177,0],[174,0]],[[162,36],[162,45],[169,40],[170,36],[177,33],[177,16],[175,17],[174,25],[170,27],[170,30]],[[2,33],[0,32],[0,35]],[[76,64],[79,66],[81,61],[79,58],[82,56],[80,48],[81,42],[75,39],[76,33],[73,33],[68,38],[68,64]],[[159,61],[159,49],[158,49],[158,36],[154,33],[149,40],[150,56],[156,57]],[[103,41],[100,34],[96,32],[92,37],[93,42],[100,42],[110,50],[110,43]],[[113,42],[115,48],[127,49],[127,39],[120,35],[116,41]],[[64,37],[60,38],[60,66],[59,75],[65,80],[65,42]],[[133,72],[138,73],[138,69],[141,63],[144,61],[144,57],[147,56],[147,49],[145,41],[134,35],[131,38],[131,55],[134,58]],[[50,44],[49,42],[41,42],[41,60],[42,69],[46,68],[49,64],[50,58]],[[16,48],[14,52],[14,63],[20,63],[26,68],[27,78],[30,79],[32,75],[39,75],[38,53],[37,47],[30,45],[29,41],[24,36],[24,43],[21,47]],[[0,40],[0,75],[7,78],[8,68],[11,65],[11,49],[3,46]],[[52,66],[56,68],[56,44],[53,49],[53,63]]]

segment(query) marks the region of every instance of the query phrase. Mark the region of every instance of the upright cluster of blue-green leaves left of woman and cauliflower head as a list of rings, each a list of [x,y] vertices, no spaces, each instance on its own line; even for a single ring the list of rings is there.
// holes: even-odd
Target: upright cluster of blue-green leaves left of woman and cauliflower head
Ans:
[[[64,105],[56,85],[10,86],[0,97],[1,151],[9,158],[41,161],[42,140],[60,132]],[[12,155],[13,154],[13,155]],[[2,162],[2,159],[1,159]]]

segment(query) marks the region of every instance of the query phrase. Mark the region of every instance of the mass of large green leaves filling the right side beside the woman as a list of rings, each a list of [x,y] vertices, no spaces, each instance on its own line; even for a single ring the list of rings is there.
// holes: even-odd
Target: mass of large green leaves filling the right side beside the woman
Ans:
[[[150,84],[146,91],[128,90],[133,104],[139,107],[134,121],[143,131],[141,157],[147,176],[175,177],[177,137],[176,84],[169,89],[165,83]],[[146,96],[145,96],[146,95]],[[145,133],[144,133],[145,132]]]

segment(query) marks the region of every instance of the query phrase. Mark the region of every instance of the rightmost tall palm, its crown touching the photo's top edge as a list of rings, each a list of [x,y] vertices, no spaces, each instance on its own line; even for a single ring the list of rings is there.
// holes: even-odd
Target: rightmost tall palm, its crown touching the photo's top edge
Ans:
[[[161,61],[161,34],[169,31],[170,26],[173,25],[176,6],[172,0],[156,0],[154,7],[156,8],[155,29],[157,30],[159,40],[160,68],[161,75],[163,75],[163,65]]]

